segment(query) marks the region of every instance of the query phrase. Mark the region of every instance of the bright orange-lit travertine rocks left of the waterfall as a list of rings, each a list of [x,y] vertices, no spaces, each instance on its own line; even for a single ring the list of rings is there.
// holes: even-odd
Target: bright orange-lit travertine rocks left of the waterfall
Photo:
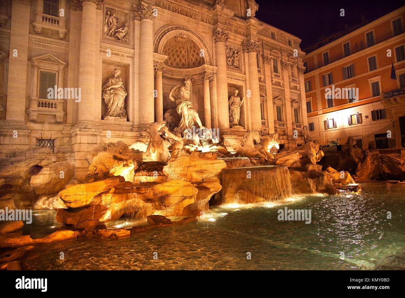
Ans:
[[[59,193],[68,208],[59,209],[56,219],[93,229],[100,222],[112,221],[124,214],[140,218],[152,214],[194,214],[197,210],[207,210],[211,196],[220,191],[217,174],[225,167],[226,163],[211,152],[194,152],[181,155],[162,167],[158,164],[144,167],[141,175],[134,168],[135,180],[146,182],[130,182],[122,176],[113,176],[71,185]]]

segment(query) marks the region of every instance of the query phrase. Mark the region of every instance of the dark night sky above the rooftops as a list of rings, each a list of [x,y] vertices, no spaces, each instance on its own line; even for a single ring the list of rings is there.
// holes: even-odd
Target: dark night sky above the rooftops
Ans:
[[[373,21],[404,5],[400,0],[256,0],[260,21],[301,38],[301,49],[312,45],[320,36],[328,36],[361,22],[361,16]],[[322,3],[323,2],[323,3]],[[322,3],[322,4],[320,4]],[[345,9],[341,17],[340,9]]]

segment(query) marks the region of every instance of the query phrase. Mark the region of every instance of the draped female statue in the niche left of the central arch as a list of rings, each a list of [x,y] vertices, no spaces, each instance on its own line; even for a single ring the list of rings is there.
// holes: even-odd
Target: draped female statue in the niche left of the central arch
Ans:
[[[102,86],[102,98],[107,105],[107,113],[104,116],[126,118],[124,109],[125,96],[127,92],[122,82],[120,69],[114,69],[114,74],[107,79]]]

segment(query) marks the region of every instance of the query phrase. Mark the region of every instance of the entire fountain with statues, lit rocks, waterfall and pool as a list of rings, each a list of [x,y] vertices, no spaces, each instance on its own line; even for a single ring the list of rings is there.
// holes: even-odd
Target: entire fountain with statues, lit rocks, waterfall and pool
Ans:
[[[104,117],[126,115],[120,73],[102,86]],[[189,79],[169,99],[176,107],[143,140],[88,154],[83,180],[64,148],[1,161],[2,216],[32,210],[0,226],[2,269],[404,268],[404,221],[387,212],[403,217],[405,184],[359,184],[322,164],[307,130],[305,144],[283,150],[277,133],[220,137],[202,125]],[[244,96],[235,89],[228,103],[238,126]],[[403,161],[343,147],[363,180],[404,171]]]

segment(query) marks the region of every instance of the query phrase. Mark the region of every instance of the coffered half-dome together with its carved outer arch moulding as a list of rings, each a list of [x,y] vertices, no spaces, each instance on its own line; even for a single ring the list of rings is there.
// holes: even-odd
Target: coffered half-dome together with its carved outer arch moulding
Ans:
[[[169,49],[172,49],[172,52]],[[203,57],[200,56],[201,49],[204,50]],[[186,67],[181,66],[180,68],[195,68],[203,64],[213,65],[213,59],[207,44],[200,36],[185,26],[162,28],[156,34],[153,51],[168,56],[165,64],[172,67],[177,67],[173,65],[181,66],[182,64],[186,65]],[[181,58],[181,54],[186,57]]]

